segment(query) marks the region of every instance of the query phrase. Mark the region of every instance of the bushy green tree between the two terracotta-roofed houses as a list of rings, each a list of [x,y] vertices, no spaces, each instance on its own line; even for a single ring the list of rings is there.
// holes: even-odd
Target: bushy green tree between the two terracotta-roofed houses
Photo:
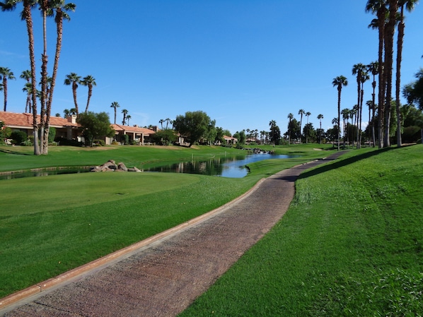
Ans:
[[[79,114],[77,122],[81,124],[81,131],[86,145],[92,146],[95,138],[115,136],[115,130],[110,126],[109,115],[105,112],[87,112]]]

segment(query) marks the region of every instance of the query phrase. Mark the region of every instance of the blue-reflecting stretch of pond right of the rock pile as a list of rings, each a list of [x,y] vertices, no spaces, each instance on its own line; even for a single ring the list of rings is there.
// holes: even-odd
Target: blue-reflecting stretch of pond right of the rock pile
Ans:
[[[144,172],[173,172],[204,174],[219,177],[241,178],[248,174],[245,165],[261,160],[288,159],[298,155],[277,155],[270,153],[250,154],[247,156],[216,157],[203,161],[179,162],[177,164],[164,165],[151,169],[144,169]]]

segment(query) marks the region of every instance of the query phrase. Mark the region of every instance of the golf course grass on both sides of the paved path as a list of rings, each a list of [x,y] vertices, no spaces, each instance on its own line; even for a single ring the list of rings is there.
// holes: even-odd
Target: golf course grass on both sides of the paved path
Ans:
[[[177,173],[81,173],[0,181],[0,298],[213,210],[331,145],[265,150],[294,158],[230,179]],[[212,146],[0,147],[0,172],[146,169],[246,153]],[[421,316],[423,146],[345,150],[296,181],[274,228],[181,316]]]

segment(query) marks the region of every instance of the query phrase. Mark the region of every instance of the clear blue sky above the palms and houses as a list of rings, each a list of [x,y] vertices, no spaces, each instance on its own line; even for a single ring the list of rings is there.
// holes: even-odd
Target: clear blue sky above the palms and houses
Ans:
[[[336,76],[349,85],[342,90],[342,109],[357,103],[352,66],[377,59],[378,33],[367,28],[373,16],[366,0],[74,0],[75,13],[64,23],[64,42],[54,90],[52,115],[74,107],[66,74],[91,75],[90,110],[108,112],[112,102],[127,109],[132,124],[158,125],[187,111],[202,110],[216,126],[231,133],[250,128],[268,131],[277,121],[286,131],[292,112],[311,112],[318,128],[332,126],[337,116]],[[21,7],[0,12],[0,66],[11,68],[8,111],[24,112],[24,80],[29,69],[28,37]],[[33,12],[37,68],[40,68],[42,25]],[[407,13],[402,85],[423,66],[423,4]],[[49,20],[50,70],[55,26]],[[78,88],[81,111],[87,88]],[[364,100],[371,100],[366,83]],[[3,97],[0,97],[1,107]],[[364,112],[365,114],[367,112]],[[364,115],[364,121],[367,115]],[[122,121],[118,114],[117,121]],[[305,119],[303,119],[305,121]],[[364,122],[366,124],[366,122]]]

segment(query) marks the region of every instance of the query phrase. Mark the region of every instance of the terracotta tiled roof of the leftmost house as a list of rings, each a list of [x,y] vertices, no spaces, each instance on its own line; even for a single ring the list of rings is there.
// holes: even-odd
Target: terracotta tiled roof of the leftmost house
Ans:
[[[13,112],[0,112],[0,121],[3,121],[5,126],[11,128],[33,128],[33,114],[16,114]],[[40,115],[37,116],[37,122],[40,122]],[[50,116],[50,126],[61,128],[64,126],[75,126],[79,124],[72,124],[67,119],[59,116]]]

